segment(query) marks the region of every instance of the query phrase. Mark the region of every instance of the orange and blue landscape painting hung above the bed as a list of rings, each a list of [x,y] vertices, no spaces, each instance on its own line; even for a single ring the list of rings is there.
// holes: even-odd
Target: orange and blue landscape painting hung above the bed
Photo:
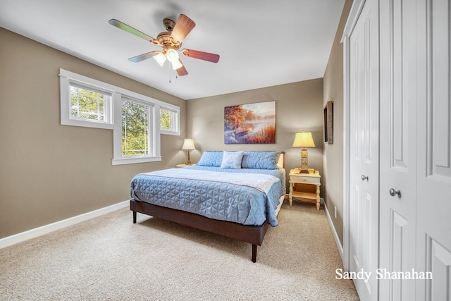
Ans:
[[[226,106],[224,143],[276,143],[276,102]]]

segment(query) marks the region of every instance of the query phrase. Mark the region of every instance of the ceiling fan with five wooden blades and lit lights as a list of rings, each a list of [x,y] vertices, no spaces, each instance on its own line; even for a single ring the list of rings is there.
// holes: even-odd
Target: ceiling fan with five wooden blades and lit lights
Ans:
[[[137,37],[141,37],[152,44],[159,45],[163,47],[161,51],[150,51],[146,54],[140,54],[139,56],[133,56],[128,59],[129,61],[138,63],[140,61],[144,61],[146,59],[154,58],[154,60],[163,67],[166,59],[171,62],[173,70],[177,71],[179,76],[187,75],[188,72],[183,66],[182,61],[179,57],[179,51],[185,55],[194,59],[201,59],[204,61],[209,61],[212,63],[218,63],[219,55],[211,54],[209,52],[193,50],[193,49],[180,49],[182,47],[183,39],[191,32],[191,30],[196,26],[193,20],[188,18],[187,16],[180,14],[178,17],[177,23],[173,20],[165,18],[163,19],[163,25],[166,28],[165,32],[160,32],[159,35],[156,36],[156,39],[146,35],[144,32],[140,32],[125,23],[122,23],[119,20],[111,19],[109,22],[111,25],[121,28],[121,30],[125,30],[126,32],[130,32],[132,35],[136,35]]]

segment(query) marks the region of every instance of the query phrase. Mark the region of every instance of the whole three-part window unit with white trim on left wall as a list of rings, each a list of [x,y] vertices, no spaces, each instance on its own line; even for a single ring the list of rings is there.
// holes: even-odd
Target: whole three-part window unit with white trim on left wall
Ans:
[[[180,135],[173,104],[60,69],[61,124],[113,130],[112,164],[161,161],[160,135]]]

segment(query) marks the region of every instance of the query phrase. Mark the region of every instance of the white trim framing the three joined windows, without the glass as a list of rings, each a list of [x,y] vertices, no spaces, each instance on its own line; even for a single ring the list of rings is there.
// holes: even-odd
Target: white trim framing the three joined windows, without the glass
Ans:
[[[87,78],[86,76],[79,75],[77,73],[70,72],[68,70],[60,69],[60,90],[61,90],[61,124],[75,125],[75,126],[87,126],[90,128],[106,128],[113,130],[113,159],[111,160],[112,165],[120,164],[135,164],[135,163],[145,163],[153,161],[161,161],[161,140],[160,135],[180,135],[180,107],[173,104],[168,104],[167,102],[161,102],[158,99],[152,97],[147,97],[142,94],[138,94],[121,87],[116,87],[115,85],[107,84],[106,82],[101,82],[99,80],[94,80],[92,78]],[[69,82],[73,81],[79,85],[86,85],[87,87],[94,87],[97,90],[103,90],[111,93],[112,100],[112,118],[111,123],[95,123],[95,122],[77,122],[77,124],[67,124],[63,123],[63,116],[70,116],[70,94],[69,94]],[[63,105],[63,96],[67,95],[67,102]],[[135,99],[137,102],[142,102],[144,104],[149,104],[153,107],[151,110],[152,119],[152,132],[150,135],[153,138],[152,150],[150,155],[142,156],[123,156],[122,155],[122,98]],[[171,110],[176,113],[177,118],[175,118],[177,131],[161,130],[160,128],[160,108]],[[70,121],[75,121],[71,119]],[[95,124],[96,126],[93,126]]]

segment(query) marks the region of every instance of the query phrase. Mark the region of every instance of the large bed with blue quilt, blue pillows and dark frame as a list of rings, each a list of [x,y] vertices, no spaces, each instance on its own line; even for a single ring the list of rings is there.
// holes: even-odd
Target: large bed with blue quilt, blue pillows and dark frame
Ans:
[[[285,197],[283,152],[202,154],[196,166],[140,173],[131,181],[130,210],[252,244],[257,262]]]

